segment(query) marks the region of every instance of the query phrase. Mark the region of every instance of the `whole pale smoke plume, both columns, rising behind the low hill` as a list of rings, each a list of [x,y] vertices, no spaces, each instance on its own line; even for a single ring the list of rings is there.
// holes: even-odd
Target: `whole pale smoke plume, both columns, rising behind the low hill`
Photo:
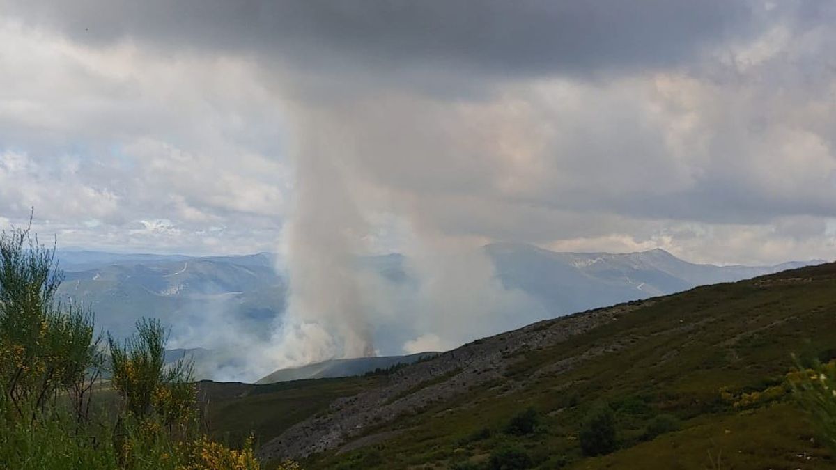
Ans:
[[[291,113],[295,204],[283,234],[290,297],[268,355],[273,368],[372,355],[375,330],[386,332],[381,344],[393,354],[446,350],[542,318],[497,280],[483,239],[440,227],[446,212],[434,207],[436,197],[482,185],[468,181],[492,161],[474,155],[472,142],[482,140],[456,107],[400,95],[330,98],[301,100]],[[404,284],[359,267],[360,256],[379,248],[370,241],[380,214],[404,229],[387,245],[406,255]],[[466,223],[470,214],[459,216]]]

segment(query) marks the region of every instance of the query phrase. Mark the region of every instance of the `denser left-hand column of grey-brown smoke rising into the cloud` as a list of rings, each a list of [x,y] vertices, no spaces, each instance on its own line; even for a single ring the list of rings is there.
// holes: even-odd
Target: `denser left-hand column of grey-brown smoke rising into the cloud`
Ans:
[[[350,141],[322,130],[315,113],[296,118],[295,205],[284,233],[290,297],[273,356],[278,366],[288,366],[374,355],[368,307],[355,275],[367,227],[346,168],[334,154],[348,150]]]

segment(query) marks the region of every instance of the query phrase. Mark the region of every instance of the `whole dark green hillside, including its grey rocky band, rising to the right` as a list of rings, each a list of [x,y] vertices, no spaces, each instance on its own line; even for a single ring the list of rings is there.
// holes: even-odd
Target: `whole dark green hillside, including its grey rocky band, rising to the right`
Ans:
[[[217,432],[240,433],[252,421],[237,416],[282,415],[256,428],[260,452],[307,455],[307,468],[487,468],[508,447],[539,468],[832,468],[780,392],[792,354],[836,355],[836,264],[540,322],[376,381],[247,386],[243,397],[219,386],[212,416]],[[772,398],[744,399],[770,386]],[[585,457],[582,423],[601,406],[617,448]],[[531,432],[509,426],[529,407]]]

